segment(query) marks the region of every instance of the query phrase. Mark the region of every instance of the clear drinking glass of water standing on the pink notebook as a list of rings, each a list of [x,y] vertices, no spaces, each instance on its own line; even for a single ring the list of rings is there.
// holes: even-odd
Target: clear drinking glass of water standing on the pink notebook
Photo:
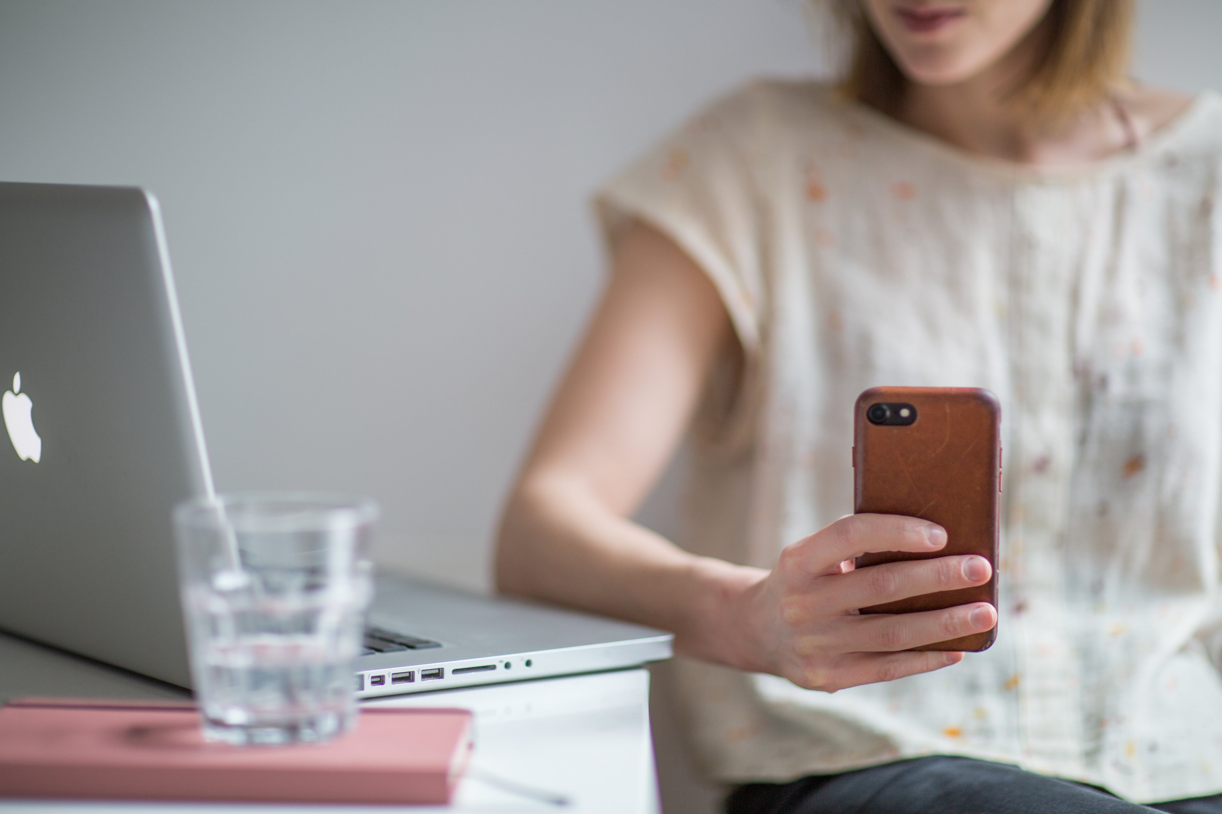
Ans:
[[[320,742],[352,729],[376,504],[220,495],[178,505],[174,520],[204,737]]]

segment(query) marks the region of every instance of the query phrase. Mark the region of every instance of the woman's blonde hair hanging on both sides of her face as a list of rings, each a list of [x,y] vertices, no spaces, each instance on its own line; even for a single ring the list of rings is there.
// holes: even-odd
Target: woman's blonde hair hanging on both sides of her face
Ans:
[[[862,0],[814,0],[831,7],[852,44],[841,79],[851,99],[893,111],[907,79],[875,34]],[[1133,0],[1052,0],[1048,37],[1035,67],[1009,94],[1034,121],[1055,124],[1105,103],[1122,85],[1133,39]]]

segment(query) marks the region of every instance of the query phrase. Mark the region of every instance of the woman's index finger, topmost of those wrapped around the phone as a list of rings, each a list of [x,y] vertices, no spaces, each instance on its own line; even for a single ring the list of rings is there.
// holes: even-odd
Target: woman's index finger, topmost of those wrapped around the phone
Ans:
[[[927,520],[902,515],[860,514],[841,517],[787,546],[778,566],[803,577],[840,572],[840,563],[871,552],[936,552],[946,531]]]

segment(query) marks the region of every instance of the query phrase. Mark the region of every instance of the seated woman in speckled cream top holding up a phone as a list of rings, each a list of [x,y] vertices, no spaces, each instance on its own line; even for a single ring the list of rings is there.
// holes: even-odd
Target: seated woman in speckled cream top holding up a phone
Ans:
[[[734,812],[1217,794],[1222,100],[1124,82],[1129,0],[838,7],[842,87],[753,84],[599,194],[613,273],[497,583],[673,631]],[[855,613],[991,576],[852,570],[946,539],[843,516],[876,384],[998,395],[998,608]],[[689,427],[681,549],[628,517]],[[984,653],[908,649],[993,625]]]

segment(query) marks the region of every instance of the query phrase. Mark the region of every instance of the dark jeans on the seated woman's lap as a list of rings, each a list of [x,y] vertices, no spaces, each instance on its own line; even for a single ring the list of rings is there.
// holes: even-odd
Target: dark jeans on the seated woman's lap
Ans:
[[[970,758],[899,760],[792,783],[739,786],[727,814],[1222,814],[1222,794],[1138,805],[1092,786]]]

